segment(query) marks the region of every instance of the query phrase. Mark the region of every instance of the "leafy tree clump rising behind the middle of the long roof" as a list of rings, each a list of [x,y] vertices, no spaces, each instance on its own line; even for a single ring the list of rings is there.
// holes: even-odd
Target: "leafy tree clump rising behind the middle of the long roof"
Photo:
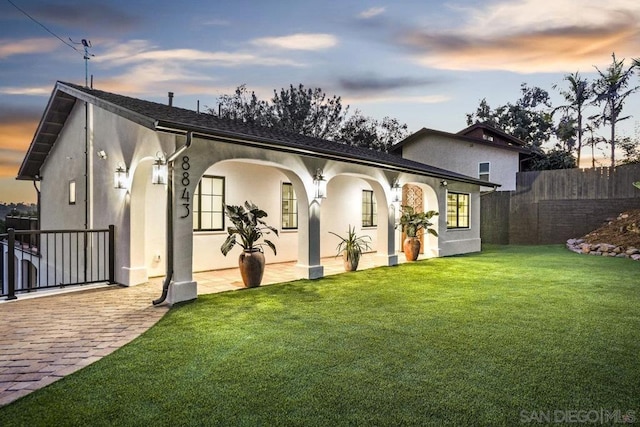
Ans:
[[[269,101],[258,99],[246,85],[240,85],[233,95],[222,95],[219,101],[217,110],[208,108],[207,112],[353,146],[387,151],[407,135],[407,125],[396,119],[385,117],[378,121],[357,110],[348,116],[349,106],[343,108],[340,97],[329,97],[320,88],[305,89],[301,84],[274,90]]]

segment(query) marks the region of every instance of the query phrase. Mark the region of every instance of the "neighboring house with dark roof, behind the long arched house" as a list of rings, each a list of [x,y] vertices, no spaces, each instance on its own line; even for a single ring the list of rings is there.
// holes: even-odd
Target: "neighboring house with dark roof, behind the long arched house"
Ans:
[[[516,174],[531,155],[522,140],[481,123],[455,134],[422,128],[396,144],[391,152],[499,184],[500,191],[516,189]]]

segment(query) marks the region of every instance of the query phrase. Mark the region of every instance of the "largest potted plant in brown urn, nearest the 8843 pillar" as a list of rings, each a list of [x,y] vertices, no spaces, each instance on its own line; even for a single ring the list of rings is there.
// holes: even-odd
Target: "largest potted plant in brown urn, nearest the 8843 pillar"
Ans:
[[[259,240],[264,234],[270,232],[277,236],[278,230],[262,220],[267,213],[252,202],[244,202],[244,206],[225,205],[224,213],[233,223],[233,227],[227,228],[229,235],[220,250],[226,256],[236,243],[240,245],[243,251],[238,259],[238,266],[242,281],[247,288],[260,286],[265,264],[262,247],[269,246],[274,255],[276,255],[276,247],[270,240],[264,239],[263,242]],[[236,236],[239,236],[240,240],[237,240]]]

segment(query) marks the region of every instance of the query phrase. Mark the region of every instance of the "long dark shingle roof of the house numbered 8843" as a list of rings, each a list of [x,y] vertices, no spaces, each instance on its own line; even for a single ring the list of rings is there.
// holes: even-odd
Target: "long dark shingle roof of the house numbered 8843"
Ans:
[[[269,149],[295,152],[311,157],[343,160],[387,170],[487,185],[486,182],[476,178],[376,150],[352,147],[334,141],[269,127],[253,126],[239,121],[220,119],[211,114],[198,113],[64,82],[56,84],[47,110],[20,167],[18,179],[37,179],[40,167],[55,143],[59,131],[64,126],[73,107],[72,101],[75,99],[90,102],[153,130],[193,131],[204,137],[233,139],[237,143],[268,146]],[[47,128],[53,129],[53,132],[46,132]]]

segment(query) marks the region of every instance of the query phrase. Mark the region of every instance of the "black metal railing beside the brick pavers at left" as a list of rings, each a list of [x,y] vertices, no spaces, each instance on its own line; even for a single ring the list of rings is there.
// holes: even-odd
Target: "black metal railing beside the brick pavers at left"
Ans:
[[[0,297],[39,289],[115,283],[115,228],[14,230],[0,234]]]

